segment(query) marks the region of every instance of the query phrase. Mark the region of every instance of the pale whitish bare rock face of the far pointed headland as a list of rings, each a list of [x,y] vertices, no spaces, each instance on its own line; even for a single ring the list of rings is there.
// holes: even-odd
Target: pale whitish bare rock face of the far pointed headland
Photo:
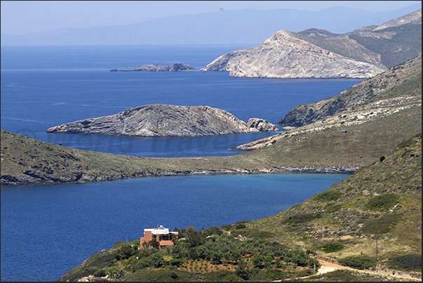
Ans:
[[[229,77],[368,79],[384,69],[344,57],[280,30],[255,48],[220,56],[204,71],[229,71]]]

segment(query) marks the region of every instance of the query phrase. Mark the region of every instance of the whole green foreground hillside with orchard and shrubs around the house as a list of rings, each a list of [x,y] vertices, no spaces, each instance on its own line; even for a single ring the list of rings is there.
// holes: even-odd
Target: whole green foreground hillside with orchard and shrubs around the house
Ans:
[[[174,246],[138,250],[139,240],[116,242],[58,281],[106,276],[132,282],[397,279],[349,270],[314,275],[310,254],[358,270],[377,265],[390,272],[421,272],[422,134],[287,211],[220,228],[175,231],[184,239],[174,239]]]

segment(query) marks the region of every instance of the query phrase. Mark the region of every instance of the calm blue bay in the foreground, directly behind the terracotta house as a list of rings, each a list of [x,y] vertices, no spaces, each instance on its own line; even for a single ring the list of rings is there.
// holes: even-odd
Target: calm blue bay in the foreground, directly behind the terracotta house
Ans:
[[[347,175],[139,178],[1,187],[1,280],[53,281],[144,228],[197,230],[274,215]]]

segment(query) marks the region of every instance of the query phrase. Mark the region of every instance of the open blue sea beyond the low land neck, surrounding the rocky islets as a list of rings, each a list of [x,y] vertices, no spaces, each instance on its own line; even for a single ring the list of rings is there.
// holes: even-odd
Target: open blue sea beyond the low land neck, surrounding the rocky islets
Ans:
[[[274,133],[201,138],[137,138],[46,133],[52,126],[153,103],[208,105],[242,121],[276,124],[293,107],[358,83],[342,79],[240,79],[228,72],[109,72],[114,68],[188,63],[196,70],[250,46],[4,46],[1,129],[49,143],[144,157],[238,154],[227,150]]]

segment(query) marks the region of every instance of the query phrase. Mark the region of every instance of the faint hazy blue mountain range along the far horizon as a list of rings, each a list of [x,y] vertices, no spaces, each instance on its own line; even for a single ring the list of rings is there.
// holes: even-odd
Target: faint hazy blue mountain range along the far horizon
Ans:
[[[317,28],[345,33],[363,26],[381,25],[419,8],[421,4],[384,12],[344,7],[316,12],[293,9],[217,11],[126,26],[65,28],[18,36],[1,34],[1,45],[260,44],[280,29],[300,32]]]

